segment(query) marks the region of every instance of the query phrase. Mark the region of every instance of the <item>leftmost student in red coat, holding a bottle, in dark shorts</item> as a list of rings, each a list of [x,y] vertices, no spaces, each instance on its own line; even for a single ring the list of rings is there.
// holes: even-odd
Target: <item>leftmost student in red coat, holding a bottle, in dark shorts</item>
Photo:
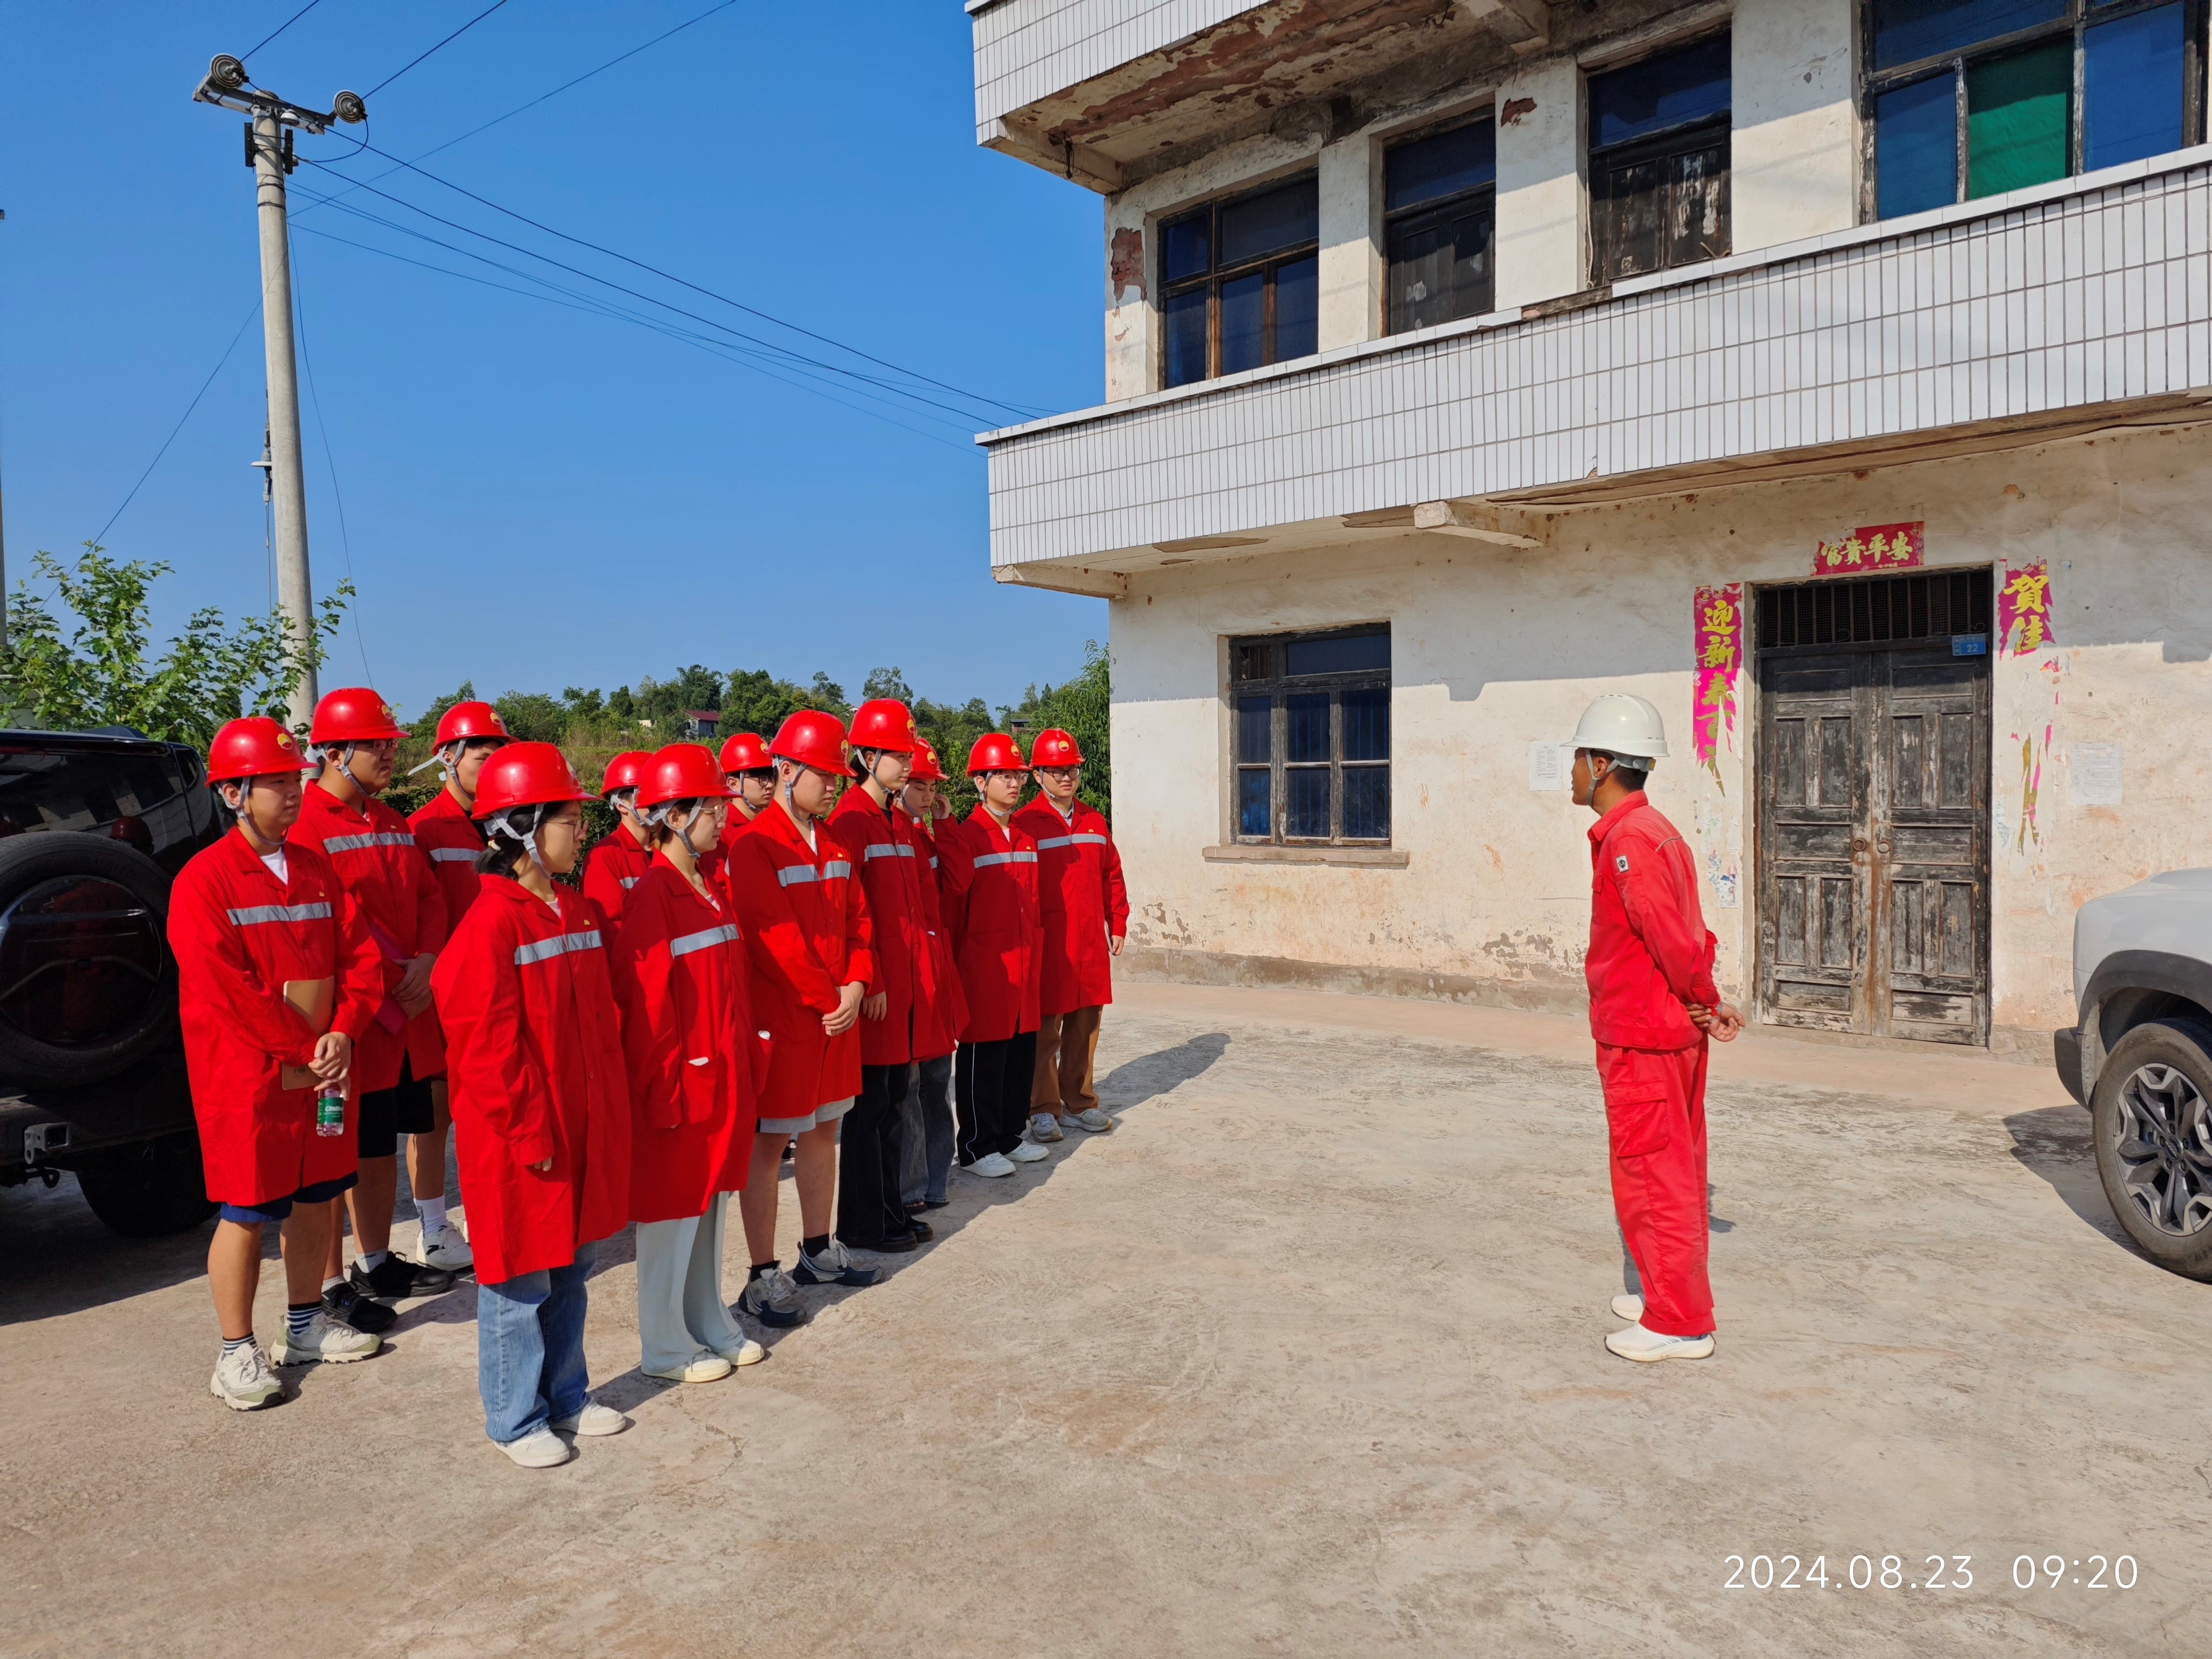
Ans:
[[[184,1064],[219,1221],[208,1287],[223,1329],[208,1391],[252,1411],[283,1389],[254,1343],[261,1232],[283,1228],[288,1290],[279,1365],[358,1360],[378,1338],[323,1310],[332,1199],[354,1183],[354,1042],[385,978],[361,909],[314,852],[288,847],[301,803],[299,741],[272,719],[215,734],[208,781],[237,830],[199,852],[168,896]],[[319,1119],[319,1097],[341,1119]]]

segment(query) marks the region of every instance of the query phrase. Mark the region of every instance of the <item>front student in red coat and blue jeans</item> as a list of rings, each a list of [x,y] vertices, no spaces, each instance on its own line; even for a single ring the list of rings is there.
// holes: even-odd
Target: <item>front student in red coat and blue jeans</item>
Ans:
[[[524,1469],[566,1462],[564,1433],[628,1427],[584,1376],[591,1245],[630,1219],[630,1082],[606,922],[553,883],[575,869],[582,801],[551,743],[491,757],[476,792],[484,887],[431,975],[476,1245],[484,1431]]]

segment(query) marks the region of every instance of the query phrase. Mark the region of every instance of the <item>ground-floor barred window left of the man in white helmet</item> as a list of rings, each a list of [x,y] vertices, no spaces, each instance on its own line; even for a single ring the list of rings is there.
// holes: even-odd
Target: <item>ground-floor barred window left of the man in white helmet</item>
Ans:
[[[1389,843],[1389,626],[1230,641],[1237,841]]]

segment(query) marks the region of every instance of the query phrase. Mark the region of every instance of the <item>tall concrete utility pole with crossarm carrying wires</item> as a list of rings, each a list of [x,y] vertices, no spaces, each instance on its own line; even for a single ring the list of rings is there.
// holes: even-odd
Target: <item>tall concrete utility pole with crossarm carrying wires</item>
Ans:
[[[299,356],[292,347],[292,232],[285,221],[283,177],[294,168],[292,128],[327,133],[332,122],[365,122],[367,106],[356,93],[338,93],[330,113],[288,104],[254,86],[246,64],[228,53],[208,64],[208,77],[192,93],[195,104],[243,111],[246,159],[254,170],[261,217],[261,341],[268,356],[268,458],[270,495],[276,520],[276,602],[292,622],[292,637],[314,639],[314,584],[307,577],[307,476],[299,458]],[[305,728],[314,717],[316,675],[303,670],[292,688],[290,723]]]

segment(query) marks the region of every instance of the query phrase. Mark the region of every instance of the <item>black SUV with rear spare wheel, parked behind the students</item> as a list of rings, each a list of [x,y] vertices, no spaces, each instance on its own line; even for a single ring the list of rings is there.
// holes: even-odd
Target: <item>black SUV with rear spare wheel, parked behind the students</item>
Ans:
[[[93,1214],[131,1237],[215,1212],[168,883],[228,827],[184,743],[0,732],[0,1186],[71,1170]]]

